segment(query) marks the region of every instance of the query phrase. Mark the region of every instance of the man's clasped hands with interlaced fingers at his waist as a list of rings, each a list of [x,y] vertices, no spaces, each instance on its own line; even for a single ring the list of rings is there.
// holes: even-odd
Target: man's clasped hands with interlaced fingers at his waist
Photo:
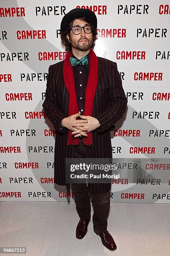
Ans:
[[[75,115],[70,115],[67,118],[62,119],[62,126],[67,127],[69,130],[73,131],[75,134],[74,138],[83,135],[87,137],[88,132],[95,130],[100,126],[99,121],[90,115],[81,115],[79,120],[76,118],[80,116],[80,111]]]

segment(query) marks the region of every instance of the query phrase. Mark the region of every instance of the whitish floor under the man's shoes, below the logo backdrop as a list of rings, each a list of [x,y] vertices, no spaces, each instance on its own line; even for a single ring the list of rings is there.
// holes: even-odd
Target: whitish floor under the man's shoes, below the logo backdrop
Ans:
[[[26,256],[170,256],[170,205],[110,205],[107,229],[116,251],[102,245],[92,220],[86,236],[75,238],[75,202],[0,202],[0,247],[27,247]]]

